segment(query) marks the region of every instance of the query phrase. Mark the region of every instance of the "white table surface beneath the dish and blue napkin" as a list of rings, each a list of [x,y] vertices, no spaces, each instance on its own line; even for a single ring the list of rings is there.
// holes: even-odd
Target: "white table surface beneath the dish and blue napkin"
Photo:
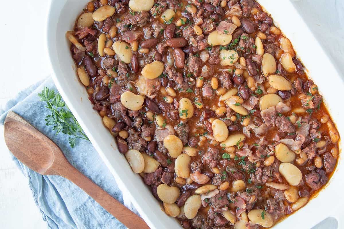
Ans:
[[[18,0],[14,4],[15,7],[5,8],[0,14],[0,107],[19,91],[49,76],[51,72],[45,47],[45,25],[50,1]],[[344,1],[300,0],[295,1],[295,5],[341,72],[344,72]],[[0,129],[0,135],[3,136],[3,128]],[[28,182],[11,160],[2,137],[0,152],[1,228],[47,228],[33,201]]]

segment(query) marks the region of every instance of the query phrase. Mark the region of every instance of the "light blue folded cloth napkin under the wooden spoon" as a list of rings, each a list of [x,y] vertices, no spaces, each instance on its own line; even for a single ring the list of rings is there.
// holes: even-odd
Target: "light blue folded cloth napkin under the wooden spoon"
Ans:
[[[80,139],[76,142],[75,147],[71,148],[68,143],[68,135],[63,133],[56,135],[52,126],[45,125],[45,116],[51,112],[45,107],[46,103],[41,102],[37,95],[44,86],[58,92],[50,77],[37,82],[20,92],[3,109],[0,109],[0,123],[3,125],[10,110],[19,114],[32,126],[52,139],[75,168],[123,203],[122,192],[114,176],[109,172],[92,144],[87,140]],[[49,228],[126,228],[69,180],[57,175],[43,176],[38,174],[23,165],[14,156],[13,161],[28,178],[35,203]],[[132,209],[129,198],[124,198],[126,199],[125,205],[138,214],[135,209]]]

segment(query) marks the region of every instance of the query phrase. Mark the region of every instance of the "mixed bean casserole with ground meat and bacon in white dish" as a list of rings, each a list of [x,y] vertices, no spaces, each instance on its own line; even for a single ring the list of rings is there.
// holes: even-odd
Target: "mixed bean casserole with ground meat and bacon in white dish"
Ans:
[[[254,0],[94,0],[66,36],[119,152],[182,227],[268,228],[329,180],[338,132]]]

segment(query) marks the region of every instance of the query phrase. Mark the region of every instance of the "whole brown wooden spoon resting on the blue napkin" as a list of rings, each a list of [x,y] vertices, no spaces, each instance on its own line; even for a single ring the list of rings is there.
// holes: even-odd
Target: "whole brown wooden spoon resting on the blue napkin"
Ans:
[[[13,155],[30,169],[72,181],[129,229],[149,229],[143,219],[74,168],[52,140],[14,112],[7,114],[4,137]]]

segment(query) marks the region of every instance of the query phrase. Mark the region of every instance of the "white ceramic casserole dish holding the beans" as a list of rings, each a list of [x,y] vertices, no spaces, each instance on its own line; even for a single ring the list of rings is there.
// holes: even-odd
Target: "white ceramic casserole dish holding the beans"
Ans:
[[[161,210],[160,204],[151,194],[149,187],[144,184],[138,174],[132,172],[125,157],[118,152],[114,138],[104,128],[98,113],[92,109],[88,94],[76,76],[76,67],[69,50],[70,42],[66,39],[65,33],[73,29],[77,16],[87,2],[87,0],[52,1],[47,22],[47,46],[56,87],[110,172],[116,177],[119,185],[125,187],[124,191],[130,195],[132,203],[149,227],[152,229],[181,228],[178,221]],[[260,0],[259,2],[290,39],[307,68],[309,77],[314,80],[319,86],[320,93],[324,95],[324,102],[329,108],[340,135],[344,137],[344,122],[341,118],[343,108],[338,106],[342,104],[339,93],[344,88],[343,76],[337,72],[331,58],[326,56],[290,0]],[[329,78],[334,83],[331,84]],[[341,148],[342,143],[340,143]],[[344,176],[343,166],[340,158],[329,185],[319,193],[319,196],[274,228],[287,229],[291,225],[295,228],[311,228],[329,216],[339,221],[339,228],[344,228],[342,209],[344,201],[340,197],[344,190],[344,182],[341,179]]]

